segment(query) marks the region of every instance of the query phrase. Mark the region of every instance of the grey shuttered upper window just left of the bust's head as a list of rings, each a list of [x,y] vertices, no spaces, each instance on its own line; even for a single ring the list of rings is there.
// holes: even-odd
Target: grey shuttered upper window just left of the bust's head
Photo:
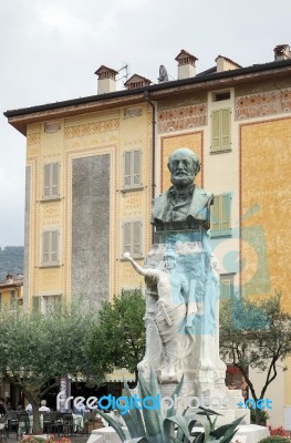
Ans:
[[[124,153],[124,188],[142,186],[142,151]]]

